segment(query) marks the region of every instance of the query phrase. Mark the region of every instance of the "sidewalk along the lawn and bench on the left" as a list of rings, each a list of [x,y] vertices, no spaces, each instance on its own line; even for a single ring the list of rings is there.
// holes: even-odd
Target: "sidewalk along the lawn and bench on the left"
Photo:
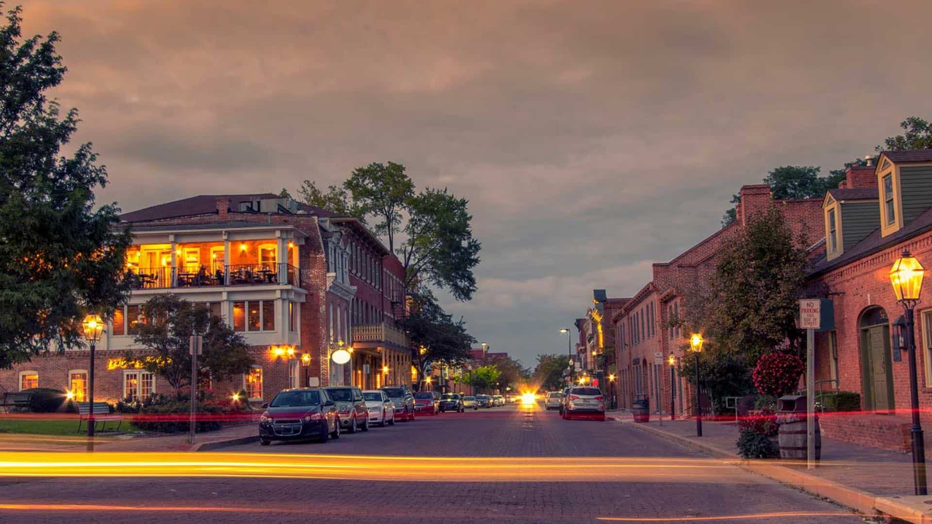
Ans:
[[[195,444],[187,443],[187,434],[153,436],[100,435],[94,440],[95,451],[209,451],[226,446],[248,444],[259,439],[255,424],[245,424],[195,435]],[[75,451],[85,449],[87,437],[43,434],[0,434],[2,451]]]

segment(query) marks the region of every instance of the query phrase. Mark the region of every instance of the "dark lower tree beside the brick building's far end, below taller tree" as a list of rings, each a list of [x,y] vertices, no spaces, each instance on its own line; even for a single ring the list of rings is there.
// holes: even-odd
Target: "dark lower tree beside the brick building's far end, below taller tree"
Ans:
[[[399,324],[416,349],[412,359],[418,370],[418,384],[424,379],[424,365],[429,362],[460,365],[470,359],[475,338],[466,331],[463,320],[453,320],[428,289],[414,297],[410,314]]]

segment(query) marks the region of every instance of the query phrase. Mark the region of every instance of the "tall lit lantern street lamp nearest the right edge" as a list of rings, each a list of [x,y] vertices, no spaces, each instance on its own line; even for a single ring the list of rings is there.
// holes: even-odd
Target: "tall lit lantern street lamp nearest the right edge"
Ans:
[[[912,412],[912,482],[916,495],[925,495],[925,444],[923,442],[923,427],[919,423],[919,386],[916,374],[916,338],[914,331],[913,311],[919,302],[919,294],[923,287],[925,269],[909,250],[904,249],[893,268],[890,268],[890,283],[897,301],[906,310],[906,347],[910,357],[910,408]]]

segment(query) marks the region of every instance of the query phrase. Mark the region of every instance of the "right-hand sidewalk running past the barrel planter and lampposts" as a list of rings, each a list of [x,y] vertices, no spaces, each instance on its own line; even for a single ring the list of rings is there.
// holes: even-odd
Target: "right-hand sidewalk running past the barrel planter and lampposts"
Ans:
[[[821,461],[815,470],[803,462],[743,461],[737,456],[735,422],[703,421],[703,436],[696,436],[695,420],[636,423],[630,413],[607,414],[615,421],[641,431],[664,436],[722,459],[734,460],[741,467],[764,476],[827,497],[867,515],[876,512],[908,522],[932,523],[932,496],[912,495],[911,455],[858,446],[822,437]],[[925,501],[929,501],[926,503]]]

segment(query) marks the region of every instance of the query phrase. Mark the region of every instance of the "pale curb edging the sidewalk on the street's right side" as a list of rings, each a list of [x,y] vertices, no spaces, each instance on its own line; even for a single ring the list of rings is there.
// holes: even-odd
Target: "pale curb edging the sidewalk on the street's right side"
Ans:
[[[626,423],[626,421],[622,421],[621,419],[614,417],[612,417],[612,420]],[[676,441],[689,448],[697,449],[712,455],[713,457],[732,460],[734,465],[749,472],[772,478],[777,482],[782,482],[819,497],[824,497],[835,503],[840,503],[842,505],[854,508],[864,515],[894,517],[915,524],[932,523],[932,517],[924,515],[922,511],[912,508],[905,503],[900,503],[898,500],[894,500],[894,497],[881,497],[871,493],[870,491],[849,488],[843,484],[839,484],[838,482],[827,480],[819,476],[802,473],[801,471],[790,469],[785,466],[778,466],[764,462],[745,461],[735,456],[733,453],[725,451],[724,449],[702,444],[690,438],[686,438],[678,434],[667,433],[663,430],[652,428],[650,426],[644,426],[634,422],[631,422],[628,425],[637,428],[639,431],[655,434],[668,440]],[[897,497],[897,499],[899,499],[899,497]]]

